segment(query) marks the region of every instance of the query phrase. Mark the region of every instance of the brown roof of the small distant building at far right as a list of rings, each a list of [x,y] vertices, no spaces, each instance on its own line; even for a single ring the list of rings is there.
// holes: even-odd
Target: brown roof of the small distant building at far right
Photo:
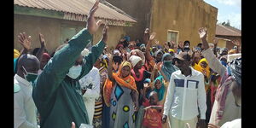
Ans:
[[[231,26],[216,25],[216,35],[241,37],[241,30]]]

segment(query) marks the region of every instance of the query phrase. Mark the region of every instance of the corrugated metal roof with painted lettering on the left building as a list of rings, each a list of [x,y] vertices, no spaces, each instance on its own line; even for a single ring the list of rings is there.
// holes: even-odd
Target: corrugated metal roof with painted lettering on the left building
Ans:
[[[55,10],[64,13],[73,13],[76,15],[88,15],[90,8],[95,2],[95,0],[15,0],[15,5]],[[133,20],[126,15],[122,15],[102,3],[99,4],[99,8],[96,10],[95,16],[96,18],[102,19],[136,22],[136,20]]]

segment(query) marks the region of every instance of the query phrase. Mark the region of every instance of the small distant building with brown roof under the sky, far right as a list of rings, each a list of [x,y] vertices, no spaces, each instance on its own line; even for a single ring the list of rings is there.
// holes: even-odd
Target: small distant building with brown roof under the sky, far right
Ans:
[[[235,46],[232,41],[241,42],[241,30],[232,26],[217,25],[215,35],[215,38],[218,38],[218,47],[220,48],[232,49]]]

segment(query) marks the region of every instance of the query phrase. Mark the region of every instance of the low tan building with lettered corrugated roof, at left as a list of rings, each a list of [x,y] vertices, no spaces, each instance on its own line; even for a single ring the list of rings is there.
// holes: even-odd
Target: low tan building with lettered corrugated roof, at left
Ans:
[[[15,0],[15,49],[21,49],[18,42],[20,32],[32,36],[32,48],[40,47],[38,33],[44,35],[46,48],[52,53],[67,38],[72,38],[86,26],[87,16],[94,0]],[[125,36],[125,29],[137,21],[100,3],[96,20],[103,20],[109,26],[108,46],[115,47]],[[102,26],[93,35],[93,44],[102,38]]]

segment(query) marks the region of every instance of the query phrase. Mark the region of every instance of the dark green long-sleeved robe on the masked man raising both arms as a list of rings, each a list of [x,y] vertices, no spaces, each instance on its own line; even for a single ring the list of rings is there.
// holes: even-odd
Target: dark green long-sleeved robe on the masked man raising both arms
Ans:
[[[105,43],[96,44],[84,57],[82,72],[77,79],[67,77],[67,73],[91,38],[86,29],[81,30],[55,53],[35,80],[32,98],[41,116],[41,128],[70,128],[72,122],[77,128],[82,123],[89,124],[79,79],[90,72]]]

